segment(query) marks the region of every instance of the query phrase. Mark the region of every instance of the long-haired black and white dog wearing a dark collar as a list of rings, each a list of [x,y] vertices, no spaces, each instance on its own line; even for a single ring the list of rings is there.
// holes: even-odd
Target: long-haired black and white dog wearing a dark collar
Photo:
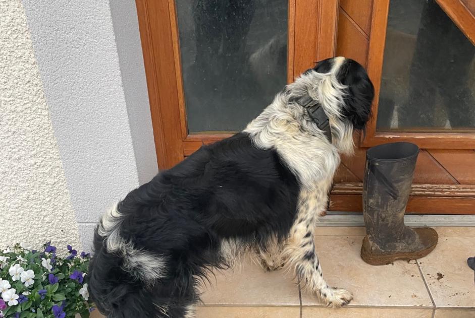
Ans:
[[[328,305],[350,292],[325,282],[313,244],[340,154],[371,113],[373,84],[354,60],[318,62],[235,136],[203,146],[133,190],[95,232],[89,292],[109,317],[194,316],[210,270],[257,251]]]

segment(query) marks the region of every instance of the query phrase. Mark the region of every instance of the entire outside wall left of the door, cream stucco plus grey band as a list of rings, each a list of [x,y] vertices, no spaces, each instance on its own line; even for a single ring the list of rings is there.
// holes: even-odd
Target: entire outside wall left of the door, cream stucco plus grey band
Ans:
[[[157,173],[135,2],[0,0],[0,245],[89,250]]]

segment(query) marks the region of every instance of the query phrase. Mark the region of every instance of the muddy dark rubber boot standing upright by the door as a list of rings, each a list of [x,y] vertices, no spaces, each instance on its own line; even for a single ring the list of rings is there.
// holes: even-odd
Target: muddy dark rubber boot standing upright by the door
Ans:
[[[371,265],[395,260],[415,260],[437,245],[438,234],[429,227],[404,225],[419,148],[411,143],[392,143],[368,149],[363,184],[363,216],[366,236],[361,258]]]

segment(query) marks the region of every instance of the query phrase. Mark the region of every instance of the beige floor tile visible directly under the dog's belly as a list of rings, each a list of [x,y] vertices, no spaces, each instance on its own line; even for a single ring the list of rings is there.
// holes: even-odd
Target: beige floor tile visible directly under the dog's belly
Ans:
[[[292,274],[264,272],[249,260],[239,269],[216,272],[212,286],[201,296],[205,305],[296,305],[298,286]],[[209,285],[209,284],[208,284]]]

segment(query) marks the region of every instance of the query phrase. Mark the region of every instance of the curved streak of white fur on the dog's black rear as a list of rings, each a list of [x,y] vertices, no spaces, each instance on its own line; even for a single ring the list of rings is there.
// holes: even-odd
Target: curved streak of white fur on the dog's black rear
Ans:
[[[134,248],[132,242],[120,236],[121,222],[124,216],[118,210],[118,204],[104,213],[99,221],[97,233],[105,238],[105,247],[110,253],[117,253],[124,259],[124,270],[132,273],[142,282],[153,284],[165,276],[165,257]]]

